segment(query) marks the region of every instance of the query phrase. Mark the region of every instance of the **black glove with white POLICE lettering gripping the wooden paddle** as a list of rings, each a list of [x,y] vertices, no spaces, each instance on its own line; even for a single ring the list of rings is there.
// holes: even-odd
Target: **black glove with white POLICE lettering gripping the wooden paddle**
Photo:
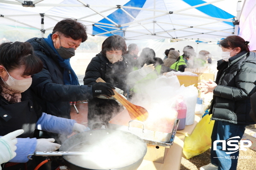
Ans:
[[[107,82],[97,82],[92,86],[93,88],[93,97],[98,97],[100,95],[111,97],[115,95],[112,89],[115,89],[113,85]]]

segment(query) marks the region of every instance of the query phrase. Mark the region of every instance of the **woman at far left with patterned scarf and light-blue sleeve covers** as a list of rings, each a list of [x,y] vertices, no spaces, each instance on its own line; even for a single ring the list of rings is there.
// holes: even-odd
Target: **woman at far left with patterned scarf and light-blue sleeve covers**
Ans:
[[[0,45],[0,137],[18,129],[24,131],[17,136],[17,155],[1,164],[3,170],[32,170],[36,165],[27,158],[29,154],[35,151],[55,151],[61,146],[53,143],[55,139],[34,138],[35,129],[39,127],[64,135],[86,129],[75,120],[42,113],[34,102],[29,89],[31,75],[40,72],[42,68],[43,63],[34,55],[29,42],[6,42]]]

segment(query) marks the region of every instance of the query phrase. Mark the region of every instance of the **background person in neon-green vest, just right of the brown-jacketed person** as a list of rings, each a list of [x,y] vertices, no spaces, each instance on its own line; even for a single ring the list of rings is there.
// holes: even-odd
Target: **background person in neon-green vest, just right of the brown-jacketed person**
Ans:
[[[177,61],[171,65],[171,69],[184,72],[185,68],[192,68],[195,50],[192,46],[187,45],[183,48],[183,55],[178,57]]]

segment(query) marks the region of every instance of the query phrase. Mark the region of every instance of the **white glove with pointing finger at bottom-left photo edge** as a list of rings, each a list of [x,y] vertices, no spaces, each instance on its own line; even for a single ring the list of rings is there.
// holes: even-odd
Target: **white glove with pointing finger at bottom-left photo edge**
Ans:
[[[16,137],[21,135],[23,132],[23,129],[15,130],[0,138],[0,164],[8,162],[9,160],[13,159],[16,156]],[[1,166],[0,169],[2,169]]]

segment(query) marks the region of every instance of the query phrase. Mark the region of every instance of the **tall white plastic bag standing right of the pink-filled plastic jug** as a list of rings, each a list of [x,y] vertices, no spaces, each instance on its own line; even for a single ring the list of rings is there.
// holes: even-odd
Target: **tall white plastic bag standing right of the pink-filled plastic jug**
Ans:
[[[198,89],[194,85],[188,87],[181,85],[179,94],[183,96],[187,106],[186,125],[192,125],[195,121],[195,106],[198,97]]]

